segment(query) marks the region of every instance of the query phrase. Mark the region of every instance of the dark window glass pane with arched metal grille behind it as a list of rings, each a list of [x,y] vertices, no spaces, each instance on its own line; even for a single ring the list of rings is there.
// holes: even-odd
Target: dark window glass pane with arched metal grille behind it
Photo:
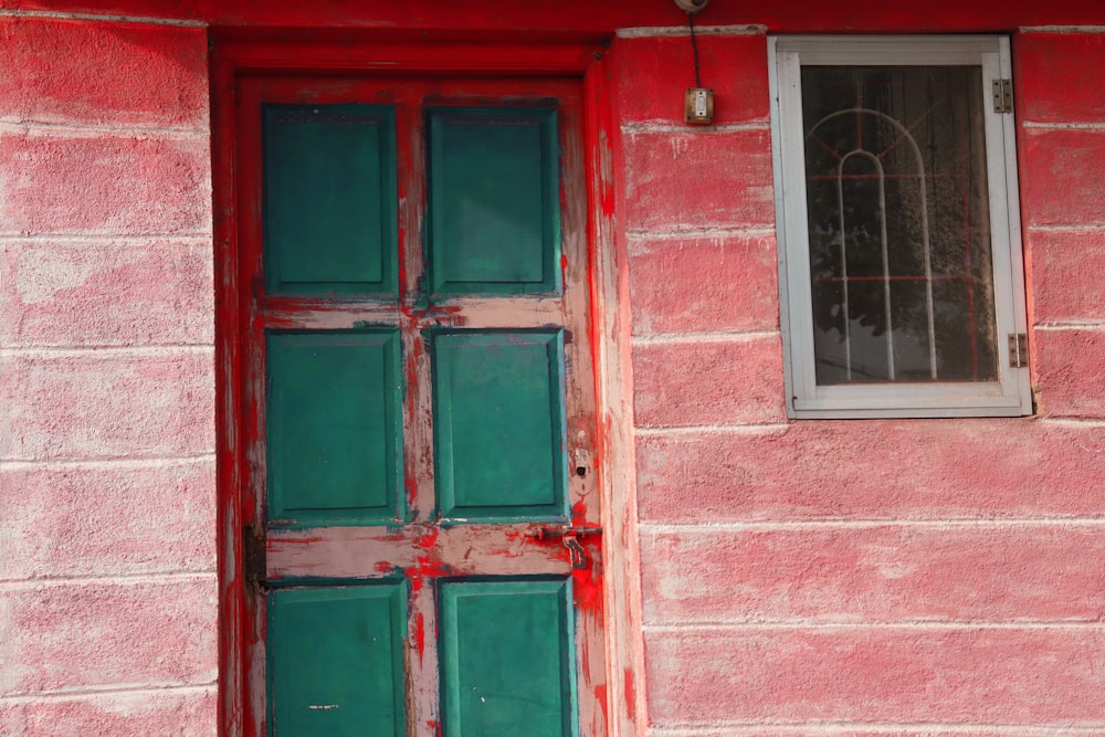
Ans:
[[[997,379],[982,75],[806,66],[819,385]]]

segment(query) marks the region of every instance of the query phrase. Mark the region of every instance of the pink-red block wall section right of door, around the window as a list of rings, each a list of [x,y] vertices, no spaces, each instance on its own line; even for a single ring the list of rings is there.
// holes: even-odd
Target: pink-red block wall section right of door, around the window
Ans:
[[[1105,35],[1014,38],[1036,417],[786,418],[766,36],[623,33],[656,736],[1105,728]]]

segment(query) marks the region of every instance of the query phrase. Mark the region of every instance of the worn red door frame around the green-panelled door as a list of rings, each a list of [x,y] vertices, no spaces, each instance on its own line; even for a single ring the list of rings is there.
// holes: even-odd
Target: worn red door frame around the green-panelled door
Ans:
[[[632,442],[629,275],[624,239],[615,240],[613,165],[618,130],[613,124],[610,63],[603,44],[523,43],[434,40],[401,42],[378,34],[343,33],[309,40],[257,40],[213,33],[211,54],[212,183],[214,202],[215,389],[218,570],[219,570],[219,729],[223,735],[255,736],[263,708],[250,694],[263,663],[251,663],[249,638],[255,613],[245,581],[242,538],[246,499],[243,433],[254,423],[242,414],[245,357],[239,283],[235,204],[235,78],[271,72],[386,71],[391,74],[487,74],[577,76],[583,83],[585,187],[590,259],[591,345],[596,377],[598,431],[594,467],[601,495],[601,598],[586,604],[601,611],[606,629],[606,684],[594,698],[604,704],[607,734],[640,734],[646,725],[643,688],[644,646],[636,529],[636,491]],[[620,243],[619,243],[620,241]],[[619,266],[621,266],[619,269]],[[597,592],[596,592],[597,593]],[[577,596],[577,599],[579,597]],[[251,672],[254,677],[251,677]],[[261,680],[263,683],[263,680]],[[581,725],[582,726],[582,725]]]

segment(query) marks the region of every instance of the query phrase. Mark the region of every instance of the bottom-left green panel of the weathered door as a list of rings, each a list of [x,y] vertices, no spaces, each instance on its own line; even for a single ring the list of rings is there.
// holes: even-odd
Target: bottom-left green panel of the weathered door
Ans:
[[[404,583],[270,592],[270,735],[406,735],[406,630]]]

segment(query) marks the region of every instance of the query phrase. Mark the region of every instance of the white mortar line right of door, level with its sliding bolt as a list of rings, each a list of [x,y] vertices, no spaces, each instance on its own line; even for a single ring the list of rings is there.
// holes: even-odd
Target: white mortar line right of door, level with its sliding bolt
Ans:
[[[842,517],[824,517],[821,519],[764,519],[755,522],[688,522],[660,523],[645,519],[638,522],[638,529],[653,534],[677,533],[744,533],[770,530],[804,530],[804,529],[876,529],[880,527],[929,527],[934,529],[970,529],[975,527],[1053,527],[1084,526],[1105,527],[1105,517],[1014,517],[1014,518],[972,518],[950,517],[946,519],[849,519]]]

